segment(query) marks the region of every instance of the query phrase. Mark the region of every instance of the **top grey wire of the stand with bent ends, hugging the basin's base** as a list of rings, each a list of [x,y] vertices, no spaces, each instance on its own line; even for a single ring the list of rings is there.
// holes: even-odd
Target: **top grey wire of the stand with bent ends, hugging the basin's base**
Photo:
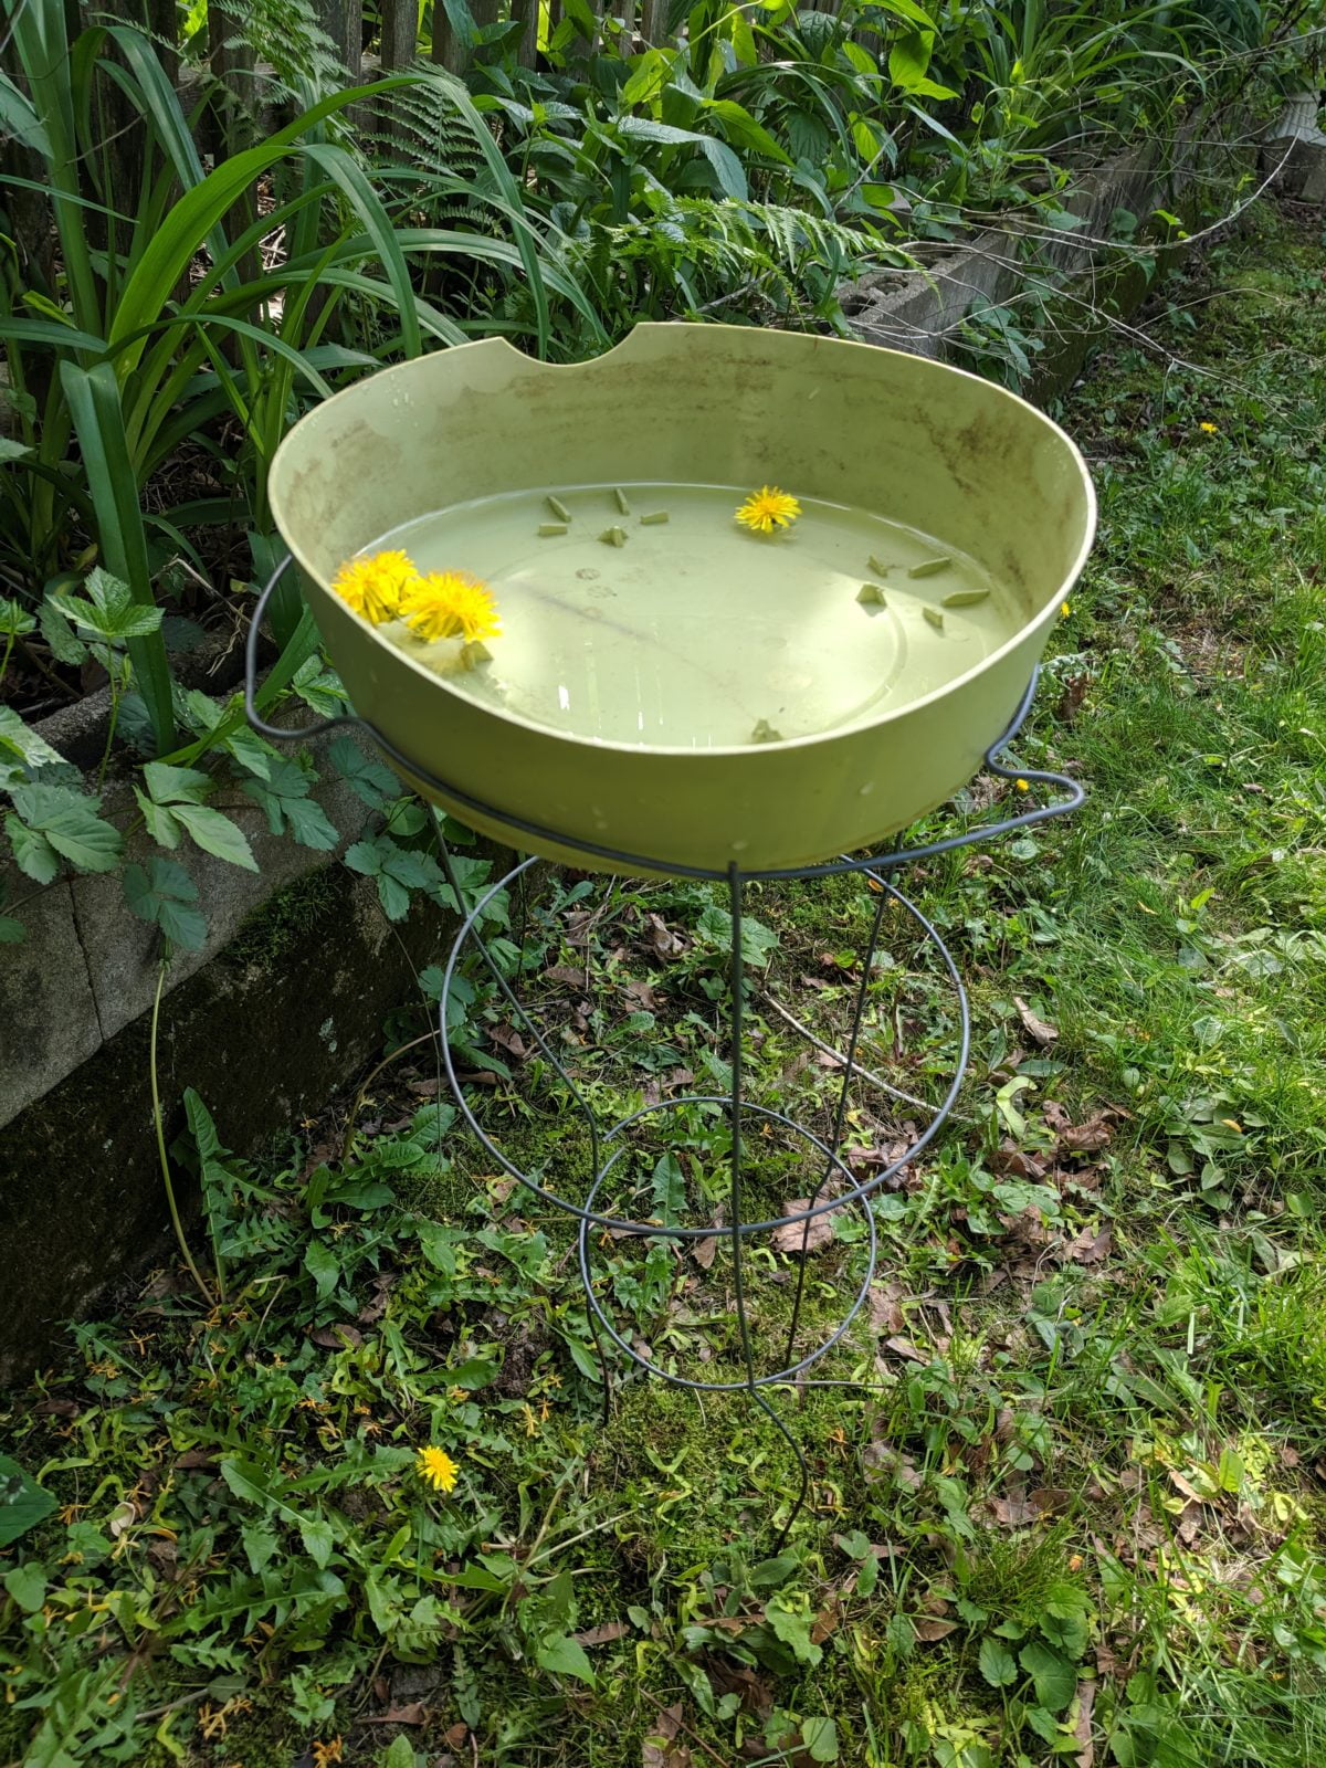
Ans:
[[[244,713],[249,723],[263,737],[274,743],[306,743],[309,737],[318,737],[325,730],[336,730],[341,725],[357,725],[366,735],[387,755],[396,767],[407,774],[410,780],[423,781],[430,792],[435,792],[440,799],[449,799],[453,804],[460,804],[463,810],[470,810],[483,817],[486,822],[495,822],[502,829],[509,831],[514,847],[527,847],[522,836],[532,836],[536,842],[550,842],[555,847],[575,847],[583,854],[594,854],[598,859],[610,859],[613,866],[622,866],[635,872],[665,872],[672,877],[688,879],[711,879],[714,882],[723,882],[727,879],[727,870],[711,866],[688,866],[679,865],[674,859],[658,859],[647,854],[628,854],[617,847],[603,847],[599,842],[589,842],[580,834],[568,834],[566,829],[548,829],[539,822],[529,822],[523,817],[516,817],[507,810],[500,810],[495,804],[488,804],[470,792],[465,792],[458,785],[451,785],[447,780],[438,780],[435,774],[428,773],[419,762],[403,755],[396,744],[384,737],[384,734],[370,725],[366,718],[357,713],[338,713],[336,718],[320,718],[313,725],[301,725],[299,728],[281,728],[279,725],[269,725],[262,713],[258,711],[258,638],[262,619],[267,612],[278,583],[285,576],[292,564],[292,555],[286,553],[281,564],[272,571],[267,580],[265,589],[258,596],[258,605],[253,610],[253,619],[249,621],[249,631],[244,640]],[[971,847],[974,842],[988,842],[995,834],[1011,834],[1015,829],[1029,829],[1038,822],[1048,822],[1052,817],[1066,817],[1070,812],[1077,810],[1086,801],[1086,790],[1077,780],[1070,780],[1068,774],[1052,773],[1043,767],[1010,767],[999,760],[1002,751],[1013,741],[1013,737],[1022,728],[1027,713],[1031,711],[1031,702],[1036,697],[1036,682],[1040,681],[1040,665],[1031,672],[1031,681],[1027,682],[1027,691],[1022,695],[1013,720],[1004,730],[997,743],[992,743],[985,751],[985,766],[992,774],[1001,780],[1025,780],[1027,785],[1033,781],[1036,785],[1045,785],[1064,794],[1054,804],[1036,804],[1024,810],[1017,817],[1004,817],[1002,822],[983,824],[978,829],[965,829],[962,834],[949,834],[942,842],[925,842],[919,847],[898,847],[888,854],[870,854],[861,859],[829,859],[815,866],[773,866],[764,872],[743,872],[744,879],[773,882],[773,880],[794,880],[794,879],[824,879],[836,877],[847,872],[863,872],[866,868],[888,872],[893,866],[907,865],[916,859],[935,859],[939,854],[951,854],[958,847]]]

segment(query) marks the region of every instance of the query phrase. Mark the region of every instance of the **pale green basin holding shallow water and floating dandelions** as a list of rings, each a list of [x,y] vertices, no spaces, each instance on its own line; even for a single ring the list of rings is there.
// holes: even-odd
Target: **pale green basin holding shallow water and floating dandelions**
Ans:
[[[766,484],[803,506],[767,537],[727,514]],[[668,488],[670,520],[640,525]],[[548,493],[566,536],[537,532]],[[598,870],[613,865],[594,849],[659,870],[812,865],[951,797],[1094,532],[1082,456],[1015,394],[728,325],[640,325],[573,366],[488,339],[385,370],[292,430],[271,500],[398,771],[488,834]],[[617,523],[628,545],[603,545]],[[896,536],[889,559],[873,532]],[[352,555],[412,536],[497,596],[504,635],[474,675],[331,589]]]

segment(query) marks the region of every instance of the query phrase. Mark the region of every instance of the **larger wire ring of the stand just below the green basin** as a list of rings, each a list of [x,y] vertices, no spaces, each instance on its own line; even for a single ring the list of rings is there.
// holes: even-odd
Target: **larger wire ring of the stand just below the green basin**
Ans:
[[[624,1130],[629,1130],[631,1124],[638,1123],[640,1117],[644,1117],[651,1110],[654,1110],[654,1107],[645,1105],[645,1107],[642,1107],[642,1110],[633,1112],[629,1117],[622,1117],[619,1123],[612,1124],[612,1128],[608,1128],[608,1130],[601,1130],[599,1128],[599,1124],[598,1124],[592,1110],[583,1101],[583,1098],[580,1094],[580,1089],[576,1087],[575,1080],[571,1078],[571,1075],[566,1071],[566,1068],[559,1061],[557,1052],[552,1048],[548,1038],[545,1036],[545,1033],[541,1031],[541,1027],[537,1025],[537,1022],[530,1017],[529,1010],[518,999],[518,995],[511,988],[509,981],[502,976],[500,969],[497,967],[497,964],[493,962],[493,958],[492,958],[492,955],[488,951],[488,946],[483,941],[483,935],[477,932],[477,928],[479,928],[479,925],[483,921],[484,909],[493,900],[493,896],[497,896],[504,889],[509,889],[509,886],[514,884],[514,880],[518,877],[522,877],[534,865],[537,865],[537,857],[522,859],[520,865],[513,866],[511,872],[507,872],[490,889],[486,889],[484,895],[479,896],[479,900],[476,902],[476,905],[470,911],[470,914],[465,918],[465,923],[463,923],[460,934],[456,934],[456,939],[453,942],[451,955],[447,958],[447,965],[446,965],[444,978],[442,978],[442,995],[440,995],[440,1001],[438,1001],[438,1025],[440,1025],[440,1033],[442,1033],[440,1034],[442,1061],[444,1061],[444,1066],[446,1066],[446,1071],[447,1071],[447,1080],[451,1082],[451,1093],[453,1093],[453,1098],[456,1100],[456,1103],[460,1105],[461,1114],[463,1114],[467,1124],[470,1126],[470,1130],[474,1132],[474,1135],[479,1139],[479,1142],[483,1144],[483,1147],[486,1149],[486,1153],[490,1153],[493,1156],[493,1160],[506,1172],[511,1174],[511,1177],[518,1179],[541,1202],[546,1202],[546,1204],[552,1204],[557,1209],[562,1209],[566,1215],[575,1216],[576,1220],[580,1220],[582,1225],[594,1223],[596,1227],[605,1227],[605,1229],[612,1229],[612,1231],[626,1232],[626,1234],[656,1234],[658,1232],[658,1223],[656,1222],[635,1222],[635,1220],[628,1220],[624,1216],[605,1215],[605,1213],[601,1213],[598,1209],[592,1209],[589,1202],[585,1202],[583,1206],[582,1204],[575,1204],[575,1202],[571,1202],[569,1197],[560,1197],[557,1192],[548,1190],[546,1186],[539,1185],[534,1177],[530,1177],[530,1174],[527,1174],[507,1155],[502,1153],[502,1149],[497,1146],[497,1142],[493,1142],[493,1139],[483,1128],[483,1124],[479,1123],[479,1119],[476,1117],[476,1114],[474,1114],[474,1110],[472,1110],[472,1107],[469,1103],[465,1087],[461,1086],[461,1078],[460,1078],[460,1073],[456,1070],[456,1061],[454,1061],[451,1045],[449,1045],[447,1036],[446,1036],[446,1027],[447,1027],[447,1022],[449,1022],[449,1011],[447,1010],[449,1010],[449,1001],[451,1001],[453,979],[456,976],[456,967],[460,964],[460,958],[461,958],[461,955],[465,951],[467,942],[470,939],[474,939],[474,942],[476,942],[476,946],[479,949],[479,955],[483,956],[483,960],[488,965],[488,971],[490,971],[493,981],[499,987],[499,992],[506,999],[507,1008],[520,1018],[522,1029],[525,1033],[529,1033],[529,1036],[534,1040],[534,1043],[537,1045],[537,1048],[543,1054],[543,1057],[560,1075],[562,1082],[566,1084],[568,1091],[571,1093],[571,1098],[575,1100],[576,1107],[580,1109],[580,1114],[585,1119],[585,1124],[587,1124],[587,1130],[589,1130],[589,1135],[591,1135],[592,1158],[594,1158],[594,1179],[592,1179],[591,1197],[594,1197],[598,1193],[599,1185],[601,1185],[601,1181],[605,1179],[605,1176],[608,1172],[608,1165],[612,1165],[612,1162],[608,1162],[606,1165],[599,1162],[599,1155],[598,1155],[599,1146],[605,1144],[605,1142],[613,1140]],[[836,1197],[826,1197],[822,1202],[815,1202],[815,1199],[812,1197],[812,1202],[810,1202],[810,1206],[806,1209],[790,1211],[789,1215],[781,1215],[781,1216],[769,1216],[767,1220],[762,1220],[762,1222],[743,1222],[741,1223],[741,1232],[743,1234],[766,1234],[766,1232],[773,1232],[774,1229],[799,1227],[803,1222],[804,1223],[813,1222],[817,1216],[829,1215],[833,1209],[842,1209],[843,1206],[854,1204],[854,1202],[865,1202],[877,1190],[880,1190],[884,1185],[888,1185],[889,1179],[896,1177],[896,1174],[902,1172],[902,1169],[907,1167],[912,1160],[916,1160],[918,1155],[925,1153],[925,1149],[930,1146],[930,1142],[934,1142],[934,1139],[942,1130],[942,1126],[944,1126],[949,1112],[953,1110],[953,1103],[956,1101],[958,1091],[962,1089],[962,1080],[964,1080],[964,1075],[965,1075],[965,1070],[967,1070],[967,1057],[971,1054],[971,1010],[969,1010],[969,1004],[967,1004],[967,990],[962,985],[962,976],[958,974],[958,967],[956,967],[956,964],[953,960],[953,955],[948,949],[948,946],[944,944],[944,941],[942,941],[939,930],[934,926],[934,923],[928,921],[926,916],[916,907],[916,903],[909,896],[903,896],[903,893],[895,884],[891,884],[888,879],[884,879],[877,872],[873,872],[870,868],[868,861],[861,861],[861,865],[856,866],[854,870],[863,872],[866,877],[873,879],[879,884],[880,891],[884,891],[889,898],[893,898],[896,903],[900,903],[912,916],[912,919],[919,925],[919,928],[921,928],[926,942],[939,953],[939,956],[942,960],[944,971],[948,972],[948,979],[949,979],[949,983],[953,987],[953,995],[955,995],[956,1008],[958,1008],[958,1025],[960,1025],[958,1055],[956,1055],[956,1061],[953,1064],[953,1080],[949,1082],[948,1091],[944,1093],[944,1098],[939,1101],[939,1105],[934,1107],[934,1116],[932,1116],[930,1123],[916,1137],[916,1140],[912,1140],[903,1149],[902,1155],[898,1155],[895,1160],[891,1160],[886,1167],[882,1167],[873,1177],[870,1177],[866,1181],[854,1179],[850,1169],[842,1162],[842,1158],[836,1155],[836,1151],[829,1147],[827,1142],[820,1142],[819,1137],[815,1137],[812,1132],[804,1130],[792,1117],[785,1117],[781,1112],[774,1112],[774,1110],[767,1110],[766,1109],[769,1117],[783,1123],[787,1128],[794,1130],[797,1135],[804,1135],[808,1140],[812,1140],[820,1149],[820,1153],[840,1169],[840,1172],[847,1179],[847,1186],[849,1188],[845,1192],[840,1192]],[[866,953],[866,962],[865,962],[865,967],[863,967],[863,971],[865,971],[866,976],[870,972],[870,962],[873,960],[873,953],[875,953],[875,946],[872,942],[872,948]],[[845,1084],[850,1084],[854,1078],[863,1078],[863,1077],[859,1073],[859,1068],[852,1061],[849,1064],[849,1071],[843,1077],[843,1080],[845,1080]],[[727,1096],[718,1096],[718,1094],[713,1094],[713,1096],[711,1094],[688,1094],[684,1100],[670,1100],[670,1101],[665,1101],[665,1103],[670,1103],[670,1105],[681,1105],[681,1103],[711,1103],[711,1105],[720,1105],[723,1109],[730,1109],[730,1100]],[[672,1239],[709,1239],[714,1234],[730,1234],[730,1232],[732,1232],[730,1223],[728,1225],[711,1223],[707,1227],[674,1227],[674,1229],[670,1229],[668,1238],[672,1238]]]

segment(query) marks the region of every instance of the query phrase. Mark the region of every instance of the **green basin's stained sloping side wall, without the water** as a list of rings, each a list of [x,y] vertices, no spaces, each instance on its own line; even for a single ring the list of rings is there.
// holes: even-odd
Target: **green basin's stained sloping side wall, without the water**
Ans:
[[[343,559],[442,506],[631,479],[778,483],[891,516],[971,553],[1024,626],[873,723],[697,751],[578,741],[481,705],[327,589]],[[870,845],[965,783],[1017,707],[1094,523],[1071,442],[1013,394],[870,345],[718,325],[644,325],[571,368],[492,339],[375,375],[292,431],[272,507],[355,711],[415,762],[414,783],[493,806],[433,792],[527,850],[594,863],[587,842],[716,872]],[[564,838],[513,836],[506,817]]]

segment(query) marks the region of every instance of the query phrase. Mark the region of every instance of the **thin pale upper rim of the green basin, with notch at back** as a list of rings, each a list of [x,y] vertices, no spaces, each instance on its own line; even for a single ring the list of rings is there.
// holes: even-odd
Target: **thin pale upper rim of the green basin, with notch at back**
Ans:
[[[808,735],[801,737],[780,737],[778,741],[773,743],[730,743],[730,744],[713,744],[697,750],[679,743],[621,743],[617,739],[576,735],[575,732],[568,730],[553,730],[550,725],[541,725],[537,720],[527,718],[523,713],[513,713],[502,705],[488,705],[483,700],[476,700],[472,695],[461,693],[444,675],[438,675],[435,670],[426,668],[423,663],[412,658],[408,651],[403,651],[400,645],[394,645],[375,626],[371,626],[368,621],[361,621],[348,606],[345,606],[339,596],[336,596],[331,585],[322,582],[322,575],[309,564],[304,548],[297,541],[290,539],[286,525],[283,522],[283,507],[281,507],[285,500],[281,488],[281,458],[290,449],[292,437],[295,437],[306,423],[320,419],[322,414],[327,412],[339,400],[354,400],[357,394],[362,394],[362,389],[370,380],[378,382],[384,377],[391,375],[408,377],[410,373],[419,371],[421,362],[428,362],[433,357],[451,357],[456,352],[463,350],[486,350],[490,355],[495,355],[499,350],[506,350],[509,355],[516,357],[525,368],[548,375],[575,375],[585,371],[592,373],[599,370],[599,366],[605,364],[610,357],[629,355],[633,348],[642,348],[649,336],[679,334],[682,331],[709,332],[721,336],[739,334],[741,338],[751,338],[751,334],[766,338],[780,338],[780,339],[804,338],[813,345],[833,345],[849,350],[870,350],[872,355],[888,355],[896,361],[903,361],[909,366],[921,364],[923,370],[934,370],[939,375],[960,375],[964,380],[978,382],[985,392],[1020,407],[1063,446],[1068,460],[1077,469],[1078,483],[1082,486],[1086,499],[1086,525],[1082,532],[1082,545],[1078,546],[1077,555],[1073,557],[1068,571],[1064,573],[1055,594],[1047,601],[1047,605],[1041,608],[1040,613],[1033,615],[1033,619],[1029,619],[1024,626],[1018,626],[1018,629],[1010,638],[1006,638],[995,651],[987,652],[979,661],[972,663],[971,668],[964,670],[962,675],[953,675],[939,688],[932,688],[928,693],[918,695],[914,700],[905,700],[900,705],[891,705],[884,709],[877,718],[870,718],[865,723],[849,725],[838,730],[810,732]],[[971,370],[956,368],[953,362],[939,362],[934,357],[914,355],[907,350],[889,350],[884,348],[882,345],[863,343],[857,338],[824,338],[819,332],[780,332],[780,331],[771,331],[769,327],[709,325],[693,320],[644,320],[642,324],[635,325],[631,332],[628,332],[628,336],[621,339],[621,343],[615,343],[610,350],[603,350],[599,355],[587,357],[582,362],[541,362],[537,357],[530,357],[525,355],[523,350],[516,350],[516,347],[506,338],[476,338],[469,343],[451,345],[446,350],[430,352],[424,357],[412,357],[408,362],[394,362],[391,368],[377,370],[373,375],[366,375],[361,380],[352,382],[348,387],[343,387],[339,392],[334,392],[329,400],[322,400],[322,403],[315,405],[313,410],[306,412],[304,417],[301,417],[299,423],[293,424],[290,431],[286,431],[276,454],[272,456],[272,465],[269,469],[267,500],[272,511],[272,520],[276,522],[281,537],[290,548],[295,564],[304,573],[304,578],[313,585],[316,585],[318,594],[324,596],[339,612],[343,612],[347,619],[354,621],[355,626],[375,645],[389,652],[396,663],[405,665],[408,670],[414,670],[423,681],[428,681],[435,688],[442,690],[449,700],[456,702],[467,713],[477,713],[483,718],[497,720],[502,725],[511,725],[516,730],[537,735],[545,743],[564,744],[568,750],[575,753],[619,753],[619,755],[633,755],[636,758],[640,757],[658,757],[659,760],[686,758],[691,762],[723,760],[737,755],[773,757],[773,755],[783,755],[790,750],[843,743],[852,737],[863,737],[872,732],[884,730],[886,727],[896,723],[902,718],[911,718],[912,714],[921,713],[941,700],[946,700],[960,688],[965,688],[969,682],[976,681],[978,675],[983,675],[987,670],[997,668],[999,663],[1002,663],[1011,652],[1015,652],[1020,645],[1024,645],[1029,636],[1041,631],[1041,628],[1054,619],[1055,603],[1068,596],[1068,592],[1082,575],[1082,568],[1086,566],[1091,555],[1091,548],[1096,539],[1096,523],[1100,514],[1096,488],[1091,481],[1091,472],[1087,470],[1086,458],[1078,449],[1077,442],[1073,442],[1073,438],[1068,435],[1068,431],[1061,424],[1057,424],[1050,415],[1040,410],[1040,407],[1033,405],[1031,400],[1024,400],[1022,394],[1011,392],[1008,387],[1001,387],[997,382],[987,380],[983,375],[974,375]],[[819,499],[819,502],[824,502],[824,499]],[[939,537],[932,536],[932,539]]]

